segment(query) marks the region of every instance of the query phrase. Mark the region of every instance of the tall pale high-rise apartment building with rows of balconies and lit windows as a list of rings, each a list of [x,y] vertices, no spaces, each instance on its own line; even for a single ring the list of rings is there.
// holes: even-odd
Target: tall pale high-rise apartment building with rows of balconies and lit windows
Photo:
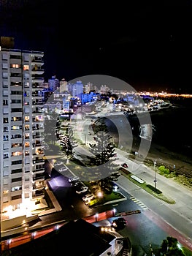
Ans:
[[[0,49],[1,214],[44,196],[43,56]]]

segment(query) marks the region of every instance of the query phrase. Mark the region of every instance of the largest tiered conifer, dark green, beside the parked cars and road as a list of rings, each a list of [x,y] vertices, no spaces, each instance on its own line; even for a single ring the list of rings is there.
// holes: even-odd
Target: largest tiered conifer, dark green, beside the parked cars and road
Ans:
[[[115,144],[106,124],[106,118],[98,118],[93,124],[93,139],[95,143],[89,144],[91,154],[88,156],[87,166],[92,167],[97,173],[98,180],[95,181],[102,191],[112,192],[112,181],[116,181],[120,174],[115,173],[118,165],[115,164]]]

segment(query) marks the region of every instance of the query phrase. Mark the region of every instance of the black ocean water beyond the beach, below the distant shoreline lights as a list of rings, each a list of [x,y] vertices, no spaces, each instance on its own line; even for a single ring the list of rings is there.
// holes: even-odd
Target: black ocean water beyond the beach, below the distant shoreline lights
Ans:
[[[192,98],[170,99],[169,101],[172,103],[172,107],[150,112],[150,121],[153,127],[152,143],[192,159]],[[145,123],[146,113],[141,113],[139,118],[138,116],[127,116],[127,118],[131,127],[130,135],[134,135],[137,141],[140,140],[141,120],[143,118]],[[110,119],[106,118],[106,121],[110,132],[118,141],[120,129],[117,129]],[[120,128],[120,122],[118,128]],[[123,130],[121,129],[121,131]],[[125,141],[127,142],[127,138]]]

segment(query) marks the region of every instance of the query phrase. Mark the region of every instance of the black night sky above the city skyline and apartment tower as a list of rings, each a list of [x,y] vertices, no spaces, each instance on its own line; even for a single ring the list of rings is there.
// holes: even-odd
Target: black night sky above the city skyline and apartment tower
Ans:
[[[110,75],[192,93],[192,1],[2,1],[2,36],[45,52],[45,79]]]

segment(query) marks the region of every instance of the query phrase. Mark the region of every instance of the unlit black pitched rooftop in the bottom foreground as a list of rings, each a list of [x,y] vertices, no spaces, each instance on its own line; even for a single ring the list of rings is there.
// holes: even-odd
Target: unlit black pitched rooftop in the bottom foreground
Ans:
[[[101,232],[84,219],[67,222],[58,230],[34,239],[26,244],[12,248],[12,255],[55,255],[55,252],[65,252],[68,256],[97,256],[110,248],[115,239],[110,233]]]

